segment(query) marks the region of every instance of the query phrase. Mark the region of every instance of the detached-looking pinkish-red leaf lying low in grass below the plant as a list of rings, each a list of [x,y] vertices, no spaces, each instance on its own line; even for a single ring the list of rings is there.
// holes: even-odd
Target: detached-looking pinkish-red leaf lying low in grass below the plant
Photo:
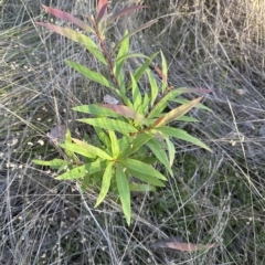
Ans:
[[[168,248],[176,250],[176,251],[181,251],[181,252],[203,251],[203,250],[212,248],[214,246],[215,246],[215,244],[202,245],[202,244],[183,243],[178,237],[170,237],[170,239],[167,239],[167,240],[157,241],[157,242],[151,244],[152,248],[158,248],[158,247],[166,247],[167,248],[168,247]]]

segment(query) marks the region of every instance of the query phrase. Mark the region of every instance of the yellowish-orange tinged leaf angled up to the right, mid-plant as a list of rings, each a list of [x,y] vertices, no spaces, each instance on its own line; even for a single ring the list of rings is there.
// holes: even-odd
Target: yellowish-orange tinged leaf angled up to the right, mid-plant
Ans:
[[[191,108],[193,108],[201,99],[202,97],[195,98],[167,113],[163,117],[160,117],[157,119],[157,121],[155,121],[156,127],[165,126],[180,118],[186,113],[188,113]]]

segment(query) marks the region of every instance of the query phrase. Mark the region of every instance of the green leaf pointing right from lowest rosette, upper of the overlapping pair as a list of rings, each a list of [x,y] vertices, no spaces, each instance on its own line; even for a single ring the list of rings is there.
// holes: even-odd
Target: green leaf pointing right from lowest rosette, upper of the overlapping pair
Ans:
[[[162,176],[160,172],[158,172],[156,169],[153,169],[151,166],[146,165],[139,160],[126,158],[120,160],[120,163],[123,163],[126,168],[132,169],[136,172],[145,172],[148,176],[155,177],[157,179],[167,180],[165,176]]]

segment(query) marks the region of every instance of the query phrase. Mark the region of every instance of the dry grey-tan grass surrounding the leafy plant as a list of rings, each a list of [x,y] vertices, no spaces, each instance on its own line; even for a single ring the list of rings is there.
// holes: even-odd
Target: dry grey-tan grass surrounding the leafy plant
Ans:
[[[83,19],[95,8],[95,1],[71,2],[53,7]],[[71,59],[100,71],[94,59],[70,41],[33,25],[33,21],[50,19],[39,2],[3,1],[1,264],[265,262],[264,1],[140,2],[150,9],[118,22],[110,38],[119,38],[125,26],[132,29],[160,17],[157,25],[134,38],[131,50],[151,54],[161,49],[170,62],[173,86],[214,91],[204,98],[213,113],[194,110],[192,115],[202,123],[177,125],[201,137],[213,153],[176,142],[174,178],[157,193],[134,194],[130,227],[112,198],[94,209],[96,191],[82,194],[78,184],[55,181],[52,172],[33,167],[35,157],[57,156],[45,135],[51,127],[63,120],[74,134],[84,134],[86,128],[74,121],[76,114],[71,108],[102,100],[105,91],[63,63]],[[131,62],[128,70],[139,63]],[[218,246],[188,254],[150,248],[152,241],[167,236],[192,243],[216,242]]]

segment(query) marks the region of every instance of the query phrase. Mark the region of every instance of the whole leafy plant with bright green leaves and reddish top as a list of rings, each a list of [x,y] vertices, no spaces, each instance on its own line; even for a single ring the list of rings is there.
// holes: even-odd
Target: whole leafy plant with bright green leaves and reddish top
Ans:
[[[121,104],[91,104],[74,107],[74,110],[88,115],[88,118],[82,118],[78,121],[94,127],[94,140],[87,142],[85,139],[75,139],[67,131],[65,141],[60,147],[65,150],[65,156],[68,159],[33,160],[33,162],[57,169],[59,173],[63,170],[64,172],[56,179],[81,180],[83,190],[89,186],[98,188],[100,191],[95,206],[104,201],[109,191],[115,192],[118,194],[128,224],[131,219],[130,192],[151,191],[156,190],[156,187],[165,187],[167,178],[155,168],[155,165],[162,165],[168,173],[173,176],[171,167],[176,152],[172,137],[210,150],[208,146],[187,131],[167,126],[174,120],[197,121],[184,114],[193,107],[203,108],[202,105],[199,105],[202,97],[184,100],[179,98],[181,94],[210,91],[169,87],[168,65],[162,52],[160,52],[161,70],[152,65],[158,53],[149,57],[139,53],[129,53],[129,38],[156,21],[150,21],[132,32],[126,31],[113,51],[107,51],[105,46],[107,25],[120,15],[142,8],[146,7],[126,8],[109,17],[107,1],[99,0],[96,19],[91,17],[92,25],[87,25],[64,11],[44,7],[56,18],[70,21],[86,33],[94,34],[98,40],[98,45],[88,35],[68,28],[36,23],[78,42],[99,63],[107,65],[113,76],[112,81],[84,65],[65,61],[87,78],[116,93]],[[135,73],[130,74],[130,81],[126,81],[124,63],[131,57],[142,57],[146,61]],[[161,82],[157,81],[156,74],[151,71],[153,68]],[[149,80],[149,94],[144,94],[139,87],[139,81],[144,75]],[[180,106],[165,114],[163,110],[168,106],[168,102],[177,102]]]

